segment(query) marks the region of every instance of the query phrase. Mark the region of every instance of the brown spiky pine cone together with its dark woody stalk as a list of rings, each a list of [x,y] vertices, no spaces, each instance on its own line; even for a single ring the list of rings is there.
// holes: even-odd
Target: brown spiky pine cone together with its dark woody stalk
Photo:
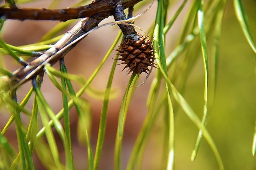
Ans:
[[[126,20],[124,8],[118,4],[114,11],[114,19]],[[118,46],[116,51],[123,61],[120,64],[126,64],[124,69],[128,68],[128,74],[133,72],[136,74],[151,72],[148,67],[154,67],[154,48],[152,40],[148,36],[142,36],[136,33],[133,26],[128,24],[118,24],[120,30],[124,34],[123,42]],[[124,70],[123,69],[123,70]]]

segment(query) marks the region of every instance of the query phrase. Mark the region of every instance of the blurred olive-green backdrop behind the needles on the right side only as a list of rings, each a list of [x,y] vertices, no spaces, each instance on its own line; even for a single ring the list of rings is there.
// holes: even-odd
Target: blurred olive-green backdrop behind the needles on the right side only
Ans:
[[[256,1],[243,0],[242,2],[255,42]],[[228,1],[220,38],[216,96],[207,121],[207,129],[216,142],[227,170],[256,169],[256,158],[252,156],[252,138],[256,119],[254,55],[238,24],[233,3]],[[203,85],[204,71],[202,58],[200,58],[188,78],[184,93],[185,99],[196,113],[202,113]],[[212,97],[212,93],[209,97]],[[176,114],[175,121],[176,168],[180,170],[218,169],[205,140],[199,148],[196,160],[189,161],[197,130],[182,111]]]

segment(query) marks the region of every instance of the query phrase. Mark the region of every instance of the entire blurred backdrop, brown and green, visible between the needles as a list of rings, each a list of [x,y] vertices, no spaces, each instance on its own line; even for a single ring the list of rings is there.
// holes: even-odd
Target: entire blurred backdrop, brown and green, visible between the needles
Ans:
[[[58,8],[66,8],[78,2],[76,0],[63,0]],[[256,2],[245,0],[243,1],[246,12],[248,14],[250,28],[254,40],[256,40]],[[29,4],[24,4],[22,7],[27,8],[48,8],[50,0],[36,1]],[[176,11],[179,4],[172,6],[170,3],[170,17]],[[189,4],[189,3],[188,3]],[[154,22],[156,14],[156,5],[148,12],[136,19],[135,24],[142,29],[147,30],[148,26]],[[186,5],[185,12],[188,5]],[[148,6],[140,11],[134,12],[138,15],[143,12]],[[176,39],[179,38],[184,23],[184,11],[175,22],[170,33],[167,35],[166,51],[169,53],[174,49]],[[170,18],[169,17],[169,18]],[[102,23],[111,22],[112,17],[107,18]],[[4,26],[4,34],[2,37],[7,43],[12,45],[26,45],[35,43],[54,25],[58,24],[55,21],[15,21],[8,20]],[[67,29],[68,30],[68,29]],[[65,30],[64,32],[66,32]],[[109,49],[110,45],[118,34],[117,26],[108,26],[100,28],[92,32],[82,42],[79,43],[66,57],[65,62],[69,73],[80,74],[88,78],[97,65],[100,63],[104,54]],[[64,33],[63,32],[63,33]],[[171,37],[171,38],[170,38]],[[256,42],[256,41],[254,41]],[[114,53],[114,52],[113,52]],[[111,56],[114,57],[114,54]],[[236,20],[236,16],[231,1],[228,2],[224,22],[222,27],[220,59],[218,70],[218,82],[216,99],[212,108],[212,112],[208,119],[207,129],[212,135],[220,155],[224,161],[224,166],[228,170],[252,170],[256,169],[256,160],[251,154],[252,137],[255,124],[256,111],[256,79],[255,79],[255,61],[253,51],[246,42],[242,30]],[[10,59],[4,57],[6,67],[14,71],[19,66]],[[100,73],[96,76],[92,85],[98,89],[104,90],[113,59],[109,58]],[[58,64],[55,65],[58,68]],[[103,146],[102,158],[100,161],[100,170],[112,170],[114,162],[114,142],[116,137],[116,128],[118,121],[118,113],[122,95],[125,91],[130,75],[124,72],[120,73],[123,66],[118,65],[113,80],[113,87],[119,91],[119,97],[110,101],[108,112],[107,131]],[[142,75],[141,77],[145,77]],[[124,132],[123,142],[123,167],[128,162],[130,152],[138,131],[142,125],[144,117],[147,114],[146,99],[148,90],[154,73],[149,77],[148,81],[142,87],[138,87],[132,99],[131,107],[128,111],[126,120],[126,128]],[[140,82],[143,79],[140,79]],[[31,87],[28,82],[18,91],[18,99],[22,100]],[[77,89],[79,86],[77,86]],[[61,93],[50,83],[47,76],[44,76],[42,92],[46,97],[50,106],[57,113],[62,108]],[[186,85],[185,99],[190,103],[196,113],[201,117],[204,93],[204,71],[202,66],[202,57],[194,67],[189,76]],[[100,112],[102,101],[92,99],[88,95],[84,98],[91,102],[92,108],[92,132],[91,142],[93,150],[96,147],[98,135],[98,125],[100,121]],[[32,108],[32,102],[28,104]],[[86,166],[86,147],[80,146],[76,138],[77,114],[74,109],[70,111],[72,143],[74,152],[75,169],[82,170]],[[6,113],[0,114],[0,128],[2,129],[8,121],[10,115]],[[24,120],[26,121],[26,120]],[[162,159],[162,140],[163,140],[163,117],[160,117],[157,125],[154,127],[152,137],[144,154],[143,169],[155,170],[161,167],[160,160]],[[190,155],[194,147],[194,142],[197,136],[197,128],[181,111],[175,116],[175,137],[176,137],[176,162],[177,170],[215,170],[218,165],[210,150],[210,147],[203,139],[199,149],[198,157],[194,162],[190,162]],[[12,144],[16,144],[14,126],[6,133]],[[64,152],[63,159],[64,159]],[[37,161],[36,169],[44,169]]]

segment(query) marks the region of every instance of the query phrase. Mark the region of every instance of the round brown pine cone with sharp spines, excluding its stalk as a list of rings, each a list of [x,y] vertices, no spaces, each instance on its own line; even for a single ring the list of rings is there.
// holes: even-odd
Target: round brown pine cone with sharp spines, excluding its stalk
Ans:
[[[130,36],[119,45],[116,51],[119,51],[118,55],[122,56],[118,59],[124,61],[120,64],[126,64],[124,69],[128,68],[127,74],[132,71],[138,75],[142,72],[148,73],[147,71],[150,71],[148,67],[154,67],[153,45],[147,36]]]

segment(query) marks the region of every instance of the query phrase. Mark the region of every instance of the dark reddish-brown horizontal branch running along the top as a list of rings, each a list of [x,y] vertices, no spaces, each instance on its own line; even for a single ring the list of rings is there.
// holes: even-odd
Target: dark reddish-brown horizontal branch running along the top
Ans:
[[[67,21],[91,16],[107,17],[113,15],[116,4],[124,8],[134,6],[142,0],[98,0],[86,6],[66,9],[29,9],[29,8],[0,8],[0,17],[12,20],[58,20]]]

